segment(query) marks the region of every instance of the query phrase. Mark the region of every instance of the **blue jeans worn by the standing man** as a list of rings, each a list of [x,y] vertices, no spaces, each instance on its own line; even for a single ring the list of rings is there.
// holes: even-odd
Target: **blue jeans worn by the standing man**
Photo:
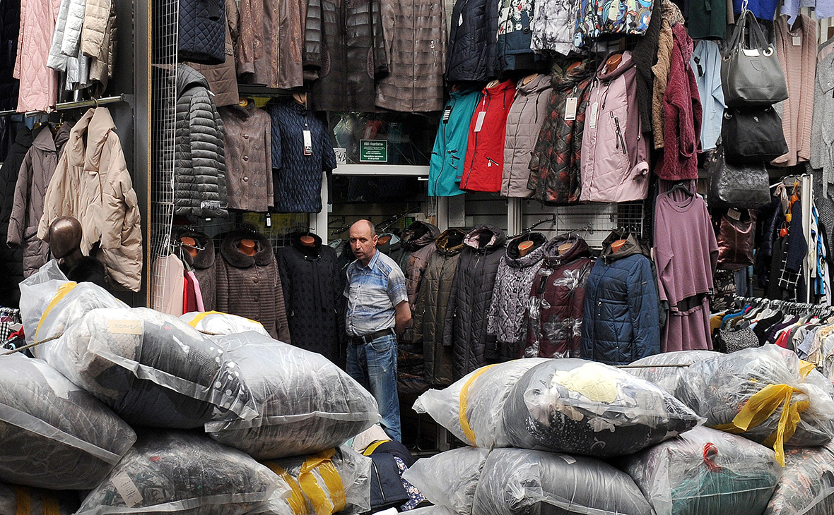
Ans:
[[[385,433],[397,442],[402,441],[397,396],[397,339],[394,335],[380,336],[369,344],[349,344],[348,374],[376,399]]]

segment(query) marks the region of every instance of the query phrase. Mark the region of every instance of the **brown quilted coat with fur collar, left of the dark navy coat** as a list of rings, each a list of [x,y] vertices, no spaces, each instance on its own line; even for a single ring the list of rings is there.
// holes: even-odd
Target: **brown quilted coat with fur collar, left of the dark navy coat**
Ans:
[[[255,255],[238,250],[240,240],[255,242]],[[234,230],[220,243],[217,269],[217,310],[253,319],[264,325],[270,336],[291,343],[284,288],[278,263],[266,236]]]

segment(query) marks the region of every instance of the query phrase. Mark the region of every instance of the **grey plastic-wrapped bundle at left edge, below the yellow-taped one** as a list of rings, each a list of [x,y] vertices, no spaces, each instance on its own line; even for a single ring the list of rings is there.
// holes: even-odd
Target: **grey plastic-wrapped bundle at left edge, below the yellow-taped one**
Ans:
[[[93,488],[136,439],[127,423],[39,359],[0,356],[0,478]]]

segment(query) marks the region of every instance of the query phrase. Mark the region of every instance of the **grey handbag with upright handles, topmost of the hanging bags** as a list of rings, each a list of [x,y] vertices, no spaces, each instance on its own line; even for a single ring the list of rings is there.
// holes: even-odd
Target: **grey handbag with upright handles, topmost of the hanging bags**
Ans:
[[[730,107],[769,106],[787,98],[776,48],[750,11],[741,13],[721,59],[721,87]]]

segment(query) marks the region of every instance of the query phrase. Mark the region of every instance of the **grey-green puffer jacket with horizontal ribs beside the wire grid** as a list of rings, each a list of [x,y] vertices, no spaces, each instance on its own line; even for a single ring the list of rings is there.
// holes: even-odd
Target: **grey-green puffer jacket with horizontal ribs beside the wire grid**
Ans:
[[[174,136],[173,214],[225,216],[226,157],[223,120],[205,77],[179,65]]]

